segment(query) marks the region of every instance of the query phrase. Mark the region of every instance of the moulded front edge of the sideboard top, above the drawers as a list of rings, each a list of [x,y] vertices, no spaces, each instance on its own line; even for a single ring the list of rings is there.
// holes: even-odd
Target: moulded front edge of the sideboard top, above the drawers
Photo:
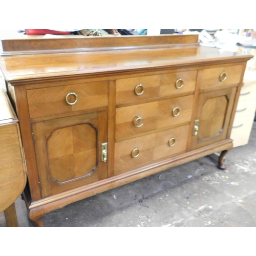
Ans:
[[[237,56],[236,59],[232,59],[231,57],[224,58],[214,58],[214,59],[199,59],[199,60],[189,60],[184,62],[178,61],[173,62],[168,65],[163,63],[157,66],[129,66],[129,67],[116,67],[116,68],[102,68],[102,69],[94,69],[94,70],[80,70],[80,71],[65,71],[67,74],[63,74],[63,72],[56,73],[46,73],[46,74],[35,74],[35,75],[27,75],[28,77],[24,79],[23,75],[20,76],[8,76],[3,72],[5,79],[12,84],[12,86],[23,86],[25,84],[30,84],[34,82],[47,82],[54,81],[60,79],[78,79],[78,78],[93,78],[93,77],[102,77],[102,76],[115,76],[115,75],[127,75],[127,74],[137,74],[141,72],[151,72],[151,71],[160,71],[165,69],[179,69],[179,68],[189,68],[193,64],[194,67],[201,67],[205,65],[218,65],[218,64],[226,64],[226,63],[237,63],[248,61],[252,56]]]

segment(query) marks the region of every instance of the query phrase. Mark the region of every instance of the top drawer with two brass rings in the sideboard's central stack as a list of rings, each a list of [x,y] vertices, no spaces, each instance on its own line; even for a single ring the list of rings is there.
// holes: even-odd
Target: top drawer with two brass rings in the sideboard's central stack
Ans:
[[[116,81],[116,104],[143,99],[194,93],[197,71],[125,78]]]

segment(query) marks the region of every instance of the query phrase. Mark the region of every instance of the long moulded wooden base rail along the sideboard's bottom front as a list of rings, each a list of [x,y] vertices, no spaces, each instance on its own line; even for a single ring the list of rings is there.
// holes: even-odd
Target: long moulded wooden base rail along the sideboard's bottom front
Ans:
[[[202,147],[198,150],[190,151],[188,153],[179,155],[177,157],[163,160],[159,163],[154,163],[146,167],[135,169],[131,172],[114,176],[108,179],[104,179],[99,182],[95,182],[91,185],[82,186],[80,188],[72,189],[70,191],[41,199],[31,203],[29,210],[33,216],[43,216],[51,210],[62,208],[70,203],[78,200],[85,199],[87,197],[94,196],[102,193],[106,190],[145,178],[147,176],[159,173],[177,165],[181,165],[195,159],[207,156],[209,154],[230,150],[232,148],[232,140],[226,139],[224,141],[212,144],[210,146]]]

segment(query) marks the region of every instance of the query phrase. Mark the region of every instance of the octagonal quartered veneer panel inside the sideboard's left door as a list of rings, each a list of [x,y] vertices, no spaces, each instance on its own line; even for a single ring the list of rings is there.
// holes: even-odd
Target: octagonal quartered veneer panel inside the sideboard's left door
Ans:
[[[96,130],[88,123],[57,129],[47,150],[52,180],[62,183],[87,176],[97,165]]]

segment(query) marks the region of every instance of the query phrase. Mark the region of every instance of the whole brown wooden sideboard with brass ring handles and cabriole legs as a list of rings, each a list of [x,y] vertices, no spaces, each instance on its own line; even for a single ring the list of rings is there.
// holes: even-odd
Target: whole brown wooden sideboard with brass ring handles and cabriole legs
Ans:
[[[196,35],[2,40],[30,219],[232,148],[251,55]]]

